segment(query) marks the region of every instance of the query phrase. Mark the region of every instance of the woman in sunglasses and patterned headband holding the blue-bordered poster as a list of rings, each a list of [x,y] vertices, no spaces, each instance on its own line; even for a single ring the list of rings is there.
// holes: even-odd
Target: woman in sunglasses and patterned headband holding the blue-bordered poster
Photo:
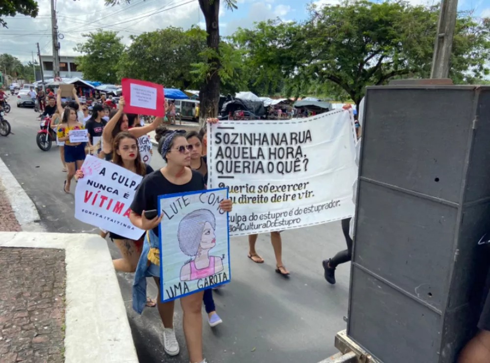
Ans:
[[[159,129],[158,131],[160,131]],[[129,219],[131,223],[147,231],[147,241],[143,245],[133,283],[133,309],[141,314],[146,301],[146,277],[153,276],[158,286],[158,312],[164,325],[164,350],[169,355],[180,351],[173,330],[174,301],[161,303],[159,224],[162,216],[151,220],[145,217],[146,210],[158,209],[158,197],[165,194],[199,191],[205,189],[202,175],[191,170],[191,145],[177,132],[160,138],[158,152],[167,165],[147,175],[136,191]],[[222,201],[220,208],[231,211],[231,200]],[[196,292],[180,298],[183,314],[184,335],[191,363],[206,362],[202,356],[202,305],[203,292]]]

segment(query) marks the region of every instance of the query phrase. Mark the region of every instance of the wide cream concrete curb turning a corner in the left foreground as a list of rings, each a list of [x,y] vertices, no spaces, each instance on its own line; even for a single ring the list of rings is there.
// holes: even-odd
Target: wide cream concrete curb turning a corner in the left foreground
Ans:
[[[0,232],[0,247],[65,250],[66,363],[138,363],[112,258],[101,237]]]

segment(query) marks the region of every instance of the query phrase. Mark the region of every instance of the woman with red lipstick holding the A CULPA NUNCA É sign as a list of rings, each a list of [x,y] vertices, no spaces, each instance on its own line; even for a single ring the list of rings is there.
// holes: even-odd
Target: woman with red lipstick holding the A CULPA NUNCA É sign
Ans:
[[[138,153],[138,139],[135,136],[126,132],[120,133],[114,139],[113,149],[116,152],[114,153],[112,162],[116,165],[122,166],[124,169],[141,176],[153,172],[151,166],[141,161]],[[83,172],[78,170],[75,178],[83,178]],[[135,272],[140,259],[144,237],[138,241],[134,241],[112,232],[109,232],[109,236],[123,256],[123,258],[112,261],[116,271]],[[147,306],[153,307],[155,306],[155,302],[148,300]]]

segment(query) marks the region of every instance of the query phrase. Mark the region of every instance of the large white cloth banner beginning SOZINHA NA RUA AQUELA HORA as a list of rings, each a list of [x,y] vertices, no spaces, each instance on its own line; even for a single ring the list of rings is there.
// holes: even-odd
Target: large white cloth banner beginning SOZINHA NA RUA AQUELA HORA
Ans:
[[[279,131],[280,130],[280,131]],[[354,214],[352,114],[208,127],[208,187],[228,187],[230,235],[306,227]]]

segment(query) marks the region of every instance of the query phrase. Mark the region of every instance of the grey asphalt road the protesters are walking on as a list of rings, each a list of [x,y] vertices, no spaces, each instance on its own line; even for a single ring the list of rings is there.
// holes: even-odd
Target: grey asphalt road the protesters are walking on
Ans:
[[[43,152],[37,147],[35,116],[32,109],[13,105],[6,118],[14,135],[0,136],[1,159],[36,204],[49,232],[97,233],[98,228],[73,217],[73,194],[62,189],[65,173],[58,148],[54,145]],[[154,155],[151,166],[156,169],[163,162],[156,150]],[[74,188],[75,183],[72,192]],[[207,320],[203,324],[204,355],[209,363],[316,363],[337,353],[333,343],[335,334],[345,328],[350,265],[339,266],[337,284],[330,286],[323,278],[321,260],[345,249],[340,222],[285,231],[282,236],[289,279],[274,272],[269,234],[260,235],[257,242],[258,253],[265,259],[262,265],[246,257],[246,237],[231,239],[232,281],[214,294],[223,324],[212,329]],[[107,243],[113,257],[119,257],[119,250]],[[174,320],[181,353],[170,358],[163,351],[157,310],[147,308],[142,316],[134,313],[132,274],[118,273],[118,278],[140,362],[188,363],[178,304]],[[149,295],[156,292],[148,280]]]

